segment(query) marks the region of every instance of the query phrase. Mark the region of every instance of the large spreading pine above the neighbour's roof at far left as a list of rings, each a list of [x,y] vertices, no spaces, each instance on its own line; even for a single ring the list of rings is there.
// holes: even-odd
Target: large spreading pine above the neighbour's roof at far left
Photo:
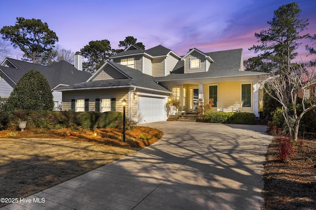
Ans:
[[[58,37],[40,19],[20,17],[16,20],[15,26],[4,26],[0,30],[2,38],[11,41],[14,48],[20,48],[26,60],[36,63],[40,56],[52,50]]]

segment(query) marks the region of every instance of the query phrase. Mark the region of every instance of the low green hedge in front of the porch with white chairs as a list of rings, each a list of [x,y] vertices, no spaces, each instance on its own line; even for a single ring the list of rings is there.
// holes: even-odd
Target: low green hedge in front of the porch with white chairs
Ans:
[[[256,116],[248,112],[209,112],[201,118],[202,122],[255,124]]]

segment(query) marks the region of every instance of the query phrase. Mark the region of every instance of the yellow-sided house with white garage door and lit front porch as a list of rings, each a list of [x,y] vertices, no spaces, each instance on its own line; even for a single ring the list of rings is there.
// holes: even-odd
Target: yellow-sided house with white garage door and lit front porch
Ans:
[[[259,115],[260,85],[255,76],[266,73],[243,70],[242,49],[203,53],[194,48],[178,56],[161,45],[148,50],[130,45],[106,61],[86,82],[64,86],[63,109],[123,111],[139,124],[166,120],[165,104],[174,99],[181,110],[193,112],[198,98],[210,98],[243,112]]]

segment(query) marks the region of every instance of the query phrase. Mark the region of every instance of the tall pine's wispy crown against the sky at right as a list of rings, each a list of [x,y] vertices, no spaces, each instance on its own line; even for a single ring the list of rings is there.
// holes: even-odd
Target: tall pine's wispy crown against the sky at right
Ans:
[[[274,11],[272,21],[268,21],[270,28],[255,33],[260,45],[253,45],[249,50],[255,53],[262,52],[259,59],[263,64],[271,63],[271,70],[289,72],[291,60],[297,56],[297,48],[302,44],[299,41],[312,38],[310,34],[301,35],[309,25],[308,19],[298,19],[301,13],[298,3],[282,5]],[[254,61],[250,60],[249,62]],[[255,60],[257,61],[257,60]]]

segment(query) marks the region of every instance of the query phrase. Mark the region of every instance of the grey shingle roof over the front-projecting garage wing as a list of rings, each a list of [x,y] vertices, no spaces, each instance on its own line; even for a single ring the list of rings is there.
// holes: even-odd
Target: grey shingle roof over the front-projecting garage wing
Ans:
[[[139,70],[120,65],[115,62],[108,61],[109,65],[114,66],[119,71],[123,72],[129,79],[115,79],[90,81],[79,84],[74,84],[67,87],[57,88],[56,90],[84,90],[84,89],[102,89],[102,88],[119,88],[119,87],[140,87],[145,89],[157,90],[162,92],[170,92],[161,85],[158,85],[154,78],[150,75],[143,74]]]

